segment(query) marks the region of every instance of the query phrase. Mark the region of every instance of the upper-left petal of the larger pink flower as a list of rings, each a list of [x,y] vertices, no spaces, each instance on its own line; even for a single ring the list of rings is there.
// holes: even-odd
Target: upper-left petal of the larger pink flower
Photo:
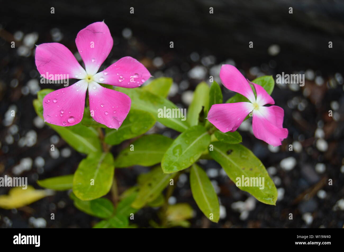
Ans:
[[[60,43],[38,45],[35,63],[39,73],[49,80],[84,79],[86,77],[84,68],[80,66],[71,51]]]

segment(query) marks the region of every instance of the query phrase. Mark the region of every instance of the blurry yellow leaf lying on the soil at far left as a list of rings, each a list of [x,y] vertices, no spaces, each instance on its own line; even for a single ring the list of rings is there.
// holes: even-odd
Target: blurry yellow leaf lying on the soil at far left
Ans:
[[[0,207],[4,209],[19,208],[52,194],[51,190],[36,190],[30,185],[25,190],[22,187],[14,187],[8,195],[0,195]]]

